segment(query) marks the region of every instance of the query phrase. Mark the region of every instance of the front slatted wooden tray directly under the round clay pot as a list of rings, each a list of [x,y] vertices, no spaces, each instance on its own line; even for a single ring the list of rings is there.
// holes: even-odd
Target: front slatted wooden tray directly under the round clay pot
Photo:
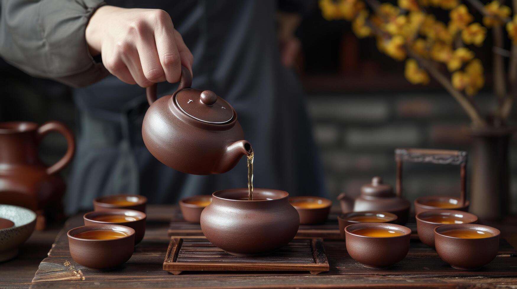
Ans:
[[[163,270],[182,271],[310,271],[329,270],[321,238],[296,238],[266,256],[234,256],[208,242],[204,236],[171,237]]]

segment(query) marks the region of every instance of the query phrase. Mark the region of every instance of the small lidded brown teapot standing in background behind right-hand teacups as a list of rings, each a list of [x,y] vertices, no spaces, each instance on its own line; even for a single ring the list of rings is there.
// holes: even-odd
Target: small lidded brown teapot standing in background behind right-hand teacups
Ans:
[[[375,176],[371,184],[361,187],[361,195],[355,200],[344,193],[338,196],[343,214],[349,212],[382,211],[397,215],[394,223],[404,224],[409,214],[410,203],[393,193],[389,184],[384,184],[380,176]]]

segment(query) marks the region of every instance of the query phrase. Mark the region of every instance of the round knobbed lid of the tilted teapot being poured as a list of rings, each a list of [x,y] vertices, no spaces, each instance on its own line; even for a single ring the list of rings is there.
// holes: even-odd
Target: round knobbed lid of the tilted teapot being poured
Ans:
[[[176,105],[193,119],[211,124],[226,124],[233,119],[233,107],[213,91],[186,88],[174,98]]]

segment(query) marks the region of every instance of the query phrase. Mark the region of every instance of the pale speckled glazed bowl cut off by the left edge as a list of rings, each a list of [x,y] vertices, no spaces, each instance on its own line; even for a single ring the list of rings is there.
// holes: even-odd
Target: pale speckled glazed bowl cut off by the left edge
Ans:
[[[36,226],[36,213],[28,208],[0,204],[0,218],[14,222],[10,228],[0,229],[0,262],[18,254],[18,247],[31,236]]]

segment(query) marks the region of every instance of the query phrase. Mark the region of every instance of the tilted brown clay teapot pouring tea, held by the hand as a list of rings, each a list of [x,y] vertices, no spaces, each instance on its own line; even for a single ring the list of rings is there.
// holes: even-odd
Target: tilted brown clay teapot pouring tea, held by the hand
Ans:
[[[147,88],[149,109],[142,124],[145,146],[163,164],[190,174],[219,174],[253,151],[233,107],[210,90],[191,88],[192,76],[181,67],[172,95],[156,99]]]

